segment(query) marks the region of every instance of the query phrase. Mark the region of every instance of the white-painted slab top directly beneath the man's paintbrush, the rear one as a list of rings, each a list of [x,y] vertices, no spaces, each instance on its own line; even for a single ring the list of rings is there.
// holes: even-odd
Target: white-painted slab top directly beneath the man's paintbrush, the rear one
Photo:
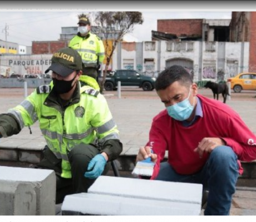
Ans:
[[[88,193],[201,205],[203,185],[99,176]]]

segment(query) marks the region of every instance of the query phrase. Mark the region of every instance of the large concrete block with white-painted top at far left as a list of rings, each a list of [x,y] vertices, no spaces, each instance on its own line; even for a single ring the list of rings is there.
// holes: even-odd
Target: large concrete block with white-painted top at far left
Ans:
[[[0,183],[10,187],[18,184],[31,186],[36,193],[35,215],[55,215],[56,176],[53,170],[0,166]],[[21,193],[26,189],[20,189]],[[23,208],[21,204],[19,207]]]

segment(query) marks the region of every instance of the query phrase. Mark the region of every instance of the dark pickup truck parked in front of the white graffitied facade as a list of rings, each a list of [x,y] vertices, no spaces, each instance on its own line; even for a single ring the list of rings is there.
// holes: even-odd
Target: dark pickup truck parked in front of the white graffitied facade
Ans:
[[[107,91],[117,90],[117,82],[121,82],[121,86],[137,86],[144,91],[150,91],[155,88],[155,78],[141,74],[137,70],[119,69],[107,75],[104,88]]]

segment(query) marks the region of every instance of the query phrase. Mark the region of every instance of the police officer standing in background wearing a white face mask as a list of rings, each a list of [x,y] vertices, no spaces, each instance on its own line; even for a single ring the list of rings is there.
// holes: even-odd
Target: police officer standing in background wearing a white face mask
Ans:
[[[98,71],[105,57],[101,39],[91,33],[91,23],[85,14],[78,15],[78,33],[69,43],[82,57],[83,75],[97,79]]]

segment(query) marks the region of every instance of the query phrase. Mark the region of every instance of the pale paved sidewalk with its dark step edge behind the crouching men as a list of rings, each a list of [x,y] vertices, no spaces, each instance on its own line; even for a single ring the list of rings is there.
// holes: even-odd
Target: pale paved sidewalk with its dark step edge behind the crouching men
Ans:
[[[124,144],[124,150],[118,161],[119,169],[131,171],[134,168],[134,160],[139,147],[147,142],[151,120],[164,109],[164,104],[157,98],[117,99],[109,97],[107,93],[105,97],[120,130],[121,142]],[[22,100],[22,97],[0,98],[0,104],[2,104],[0,113],[7,112],[9,108],[19,104]],[[236,110],[252,132],[256,133],[256,102],[228,100],[227,104]],[[18,135],[0,139],[0,164],[11,165],[18,161],[19,164],[26,165],[35,164],[40,160],[40,151],[46,142],[38,123],[33,125],[31,130],[32,134],[29,134],[29,129],[26,127]],[[233,198],[230,211],[232,215],[256,215],[256,164],[248,165],[250,167],[245,169],[244,180],[240,183],[243,187],[239,187]]]

